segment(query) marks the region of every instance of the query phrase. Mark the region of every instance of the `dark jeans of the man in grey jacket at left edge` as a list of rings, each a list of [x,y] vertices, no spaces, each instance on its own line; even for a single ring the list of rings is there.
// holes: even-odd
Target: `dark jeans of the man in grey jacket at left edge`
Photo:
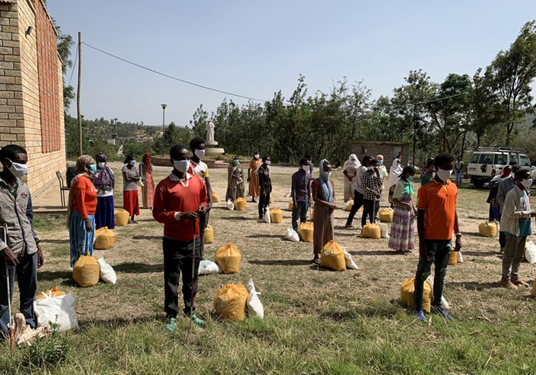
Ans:
[[[15,274],[20,291],[20,312],[24,315],[27,325],[36,328],[34,319],[34,299],[37,290],[37,253],[27,254],[19,258],[19,264],[7,267],[9,274],[9,300],[13,302],[13,289],[15,288]],[[6,280],[6,260],[0,256],[0,340],[8,337],[8,323],[10,320],[8,309],[8,290]],[[12,311],[13,312],[13,311]]]

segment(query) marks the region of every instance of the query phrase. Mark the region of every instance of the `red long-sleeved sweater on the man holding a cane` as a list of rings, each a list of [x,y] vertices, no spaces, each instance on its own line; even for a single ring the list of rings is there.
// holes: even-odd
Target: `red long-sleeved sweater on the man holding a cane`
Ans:
[[[154,191],[153,217],[164,224],[164,236],[177,241],[193,240],[193,224],[190,219],[175,220],[175,212],[198,212],[199,206],[207,207],[207,192],[202,179],[190,175],[188,186],[163,179]],[[195,237],[199,237],[199,220],[195,222]]]

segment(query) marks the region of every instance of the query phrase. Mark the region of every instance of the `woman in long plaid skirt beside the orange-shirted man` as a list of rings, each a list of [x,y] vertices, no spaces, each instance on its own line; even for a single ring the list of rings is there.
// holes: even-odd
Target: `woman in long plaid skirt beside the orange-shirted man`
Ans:
[[[413,205],[412,198],[415,191],[411,184],[415,170],[405,167],[393,194],[394,213],[389,235],[389,248],[397,253],[410,253],[415,248],[415,229],[413,228],[413,216],[417,214],[417,208]]]

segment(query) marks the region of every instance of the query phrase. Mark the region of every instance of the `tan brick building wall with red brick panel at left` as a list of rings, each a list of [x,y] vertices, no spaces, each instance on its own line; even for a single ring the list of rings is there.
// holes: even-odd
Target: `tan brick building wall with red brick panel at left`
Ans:
[[[56,170],[66,169],[63,83],[42,0],[0,0],[0,147],[10,143],[27,149],[34,196],[58,184]]]

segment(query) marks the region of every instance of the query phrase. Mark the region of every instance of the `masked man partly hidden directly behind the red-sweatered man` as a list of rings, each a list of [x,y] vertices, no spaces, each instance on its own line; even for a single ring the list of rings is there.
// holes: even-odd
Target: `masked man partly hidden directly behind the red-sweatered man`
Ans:
[[[199,216],[199,241],[201,243],[201,258],[204,257],[204,230],[206,230],[207,226],[209,225],[210,209],[212,208],[212,185],[210,184],[209,178],[209,166],[207,166],[207,163],[204,163],[204,161],[201,160],[204,158],[205,148],[206,145],[204,145],[204,140],[202,140],[202,138],[196,137],[190,141],[192,157],[190,159],[190,170],[188,170],[188,172],[198,175],[204,184],[205,190],[207,191],[207,210],[200,213]]]

